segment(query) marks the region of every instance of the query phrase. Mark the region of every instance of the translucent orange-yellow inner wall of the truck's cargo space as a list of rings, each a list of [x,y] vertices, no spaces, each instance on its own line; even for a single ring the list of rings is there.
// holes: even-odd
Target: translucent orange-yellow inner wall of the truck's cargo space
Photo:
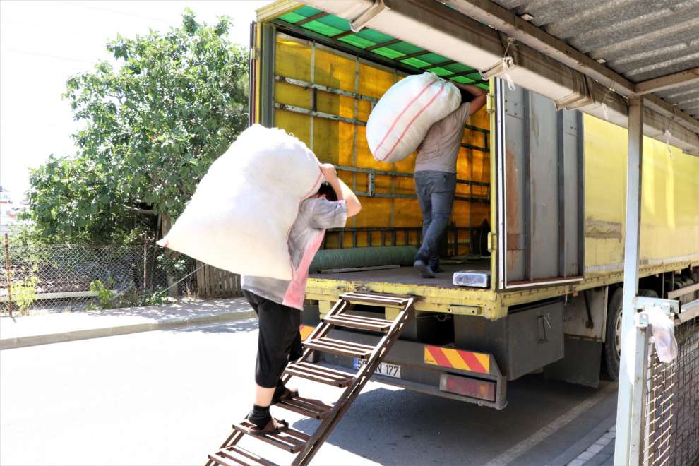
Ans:
[[[311,76],[311,61],[314,64],[313,76]],[[359,71],[358,76],[357,71]],[[322,46],[315,47],[313,52],[311,42],[281,33],[277,34],[275,74],[349,92],[358,92],[377,99],[391,85],[402,78],[395,71],[389,71],[379,66],[371,66],[364,62],[357,63],[357,60],[352,56],[334,52]],[[335,114],[346,118],[356,117],[360,121],[366,121],[369,118],[371,112],[371,104],[369,102],[321,91],[317,91],[316,96],[316,109],[318,112]],[[282,104],[311,109],[311,90],[304,90],[295,85],[275,83],[274,99],[275,102]],[[482,109],[472,115],[467,123],[488,129],[489,115],[485,109]],[[307,115],[282,109],[275,109],[274,124],[289,133],[293,133],[294,136],[304,141],[323,162],[395,172],[413,172],[414,155],[395,164],[376,162],[374,157],[371,156],[366,143],[365,126],[318,117],[311,119]],[[483,146],[484,133],[467,130],[464,133],[463,141],[472,145]],[[349,186],[359,191],[367,190],[366,174],[352,174],[342,171],[339,173],[340,177]],[[459,179],[489,182],[489,154],[462,148],[458,161],[457,177]],[[377,175],[376,192],[414,193],[414,182],[412,179],[405,177]],[[458,185],[458,195],[467,196],[468,193],[468,185]],[[486,196],[487,188],[485,186],[473,186],[473,195]],[[347,227],[419,227],[422,225],[422,215],[417,199],[362,197],[360,201],[362,201],[363,205],[362,212],[357,217],[353,217],[348,222]],[[490,206],[486,203],[455,201],[452,221],[459,227],[466,227],[469,225],[469,221],[472,225],[478,226],[484,219],[489,218],[489,215]],[[335,238],[329,238],[328,247],[340,246],[336,244],[336,240],[335,244],[333,244],[334,240]],[[342,246],[352,246],[351,241],[351,236],[349,234],[345,235],[345,241]],[[380,244],[379,241],[378,233],[375,233],[373,244]],[[400,241],[402,240],[399,239],[399,244]],[[467,239],[460,237],[460,241],[465,242]],[[357,246],[366,246],[367,244],[366,235],[358,238]],[[466,244],[458,252],[467,253]]]

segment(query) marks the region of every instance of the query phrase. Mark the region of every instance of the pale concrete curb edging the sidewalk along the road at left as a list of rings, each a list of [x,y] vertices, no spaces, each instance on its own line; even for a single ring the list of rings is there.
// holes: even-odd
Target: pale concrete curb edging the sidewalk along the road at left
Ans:
[[[220,314],[207,314],[196,317],[175,317],[163,321],[149,323],[135,323],[132,325],[120,325],[117,327],[90,328],[75,330],[73,332],[49,333],[46,335],[30,335],[27,337],[5,338],[0,340],[0,351],[3,349],[23,348],[36,345],[49,345],[51,343],[71,342],[76,340],[88,340],[90,338],[113,337],[127,335],[129,333],[150,332],[153,330],[166,330],[172,328],[192,327],[242,321],[255,317],[255,311],[225,312]]]

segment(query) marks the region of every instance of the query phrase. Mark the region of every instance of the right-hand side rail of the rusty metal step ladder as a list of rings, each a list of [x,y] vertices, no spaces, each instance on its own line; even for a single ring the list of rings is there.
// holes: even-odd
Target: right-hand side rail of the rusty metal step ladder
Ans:
[[[388,353],[390,347],[392,347],[393,343],[398,340],[402,329],[413,315],[411,312],[413,306],[414,299],[407,299],[407,304],[405,304],[404,309],[398,313],[398,316],[396,316],[395,320],[393,321],[393,325],[391,325],[386,335],[381,337],[381,340],[379,340],[378,344],[374,348],[374,351],[371,352],[369,360],[359,369],[357,375],[354,376],[354,382],[352,385],[345,388],[345,392],[342,393],[337,402],[335,402],[333,410],[330,412],[330,414],[328,414],[328,417],[323,419],[323,423],[318,426],[315,434],[313,434],[313,436],[309,438],[309,441],[306,442],[305,448],[301,450],[301,453],[299,453],[292,465],[307,465],[311,459],[313,459],[313,456],[318,453],[318,449],[325,442],[325,439],[328,438],[333,429],[335,429],[337,423],[340,422],[342,415],[347,412],[349,407],[352,405],[352,402],[354,402],[354,399],[359,396],[359,393],[362,392],[362,388],[364,388],[369,379],[371,379],[371,376],[374,374],[374,371],[376,371],[378,364],[380,364],[383,357],[386,356],[386,353]]]

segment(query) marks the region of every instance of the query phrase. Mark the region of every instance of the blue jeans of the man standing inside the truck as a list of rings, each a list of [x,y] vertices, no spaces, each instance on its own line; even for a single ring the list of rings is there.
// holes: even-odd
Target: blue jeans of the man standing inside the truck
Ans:
[[[415,172],[415,191],[422,210],[422,246],[419,256],[431,268],[439,264],[439,239],[451,218],[456,192],[456,174],[449,172]]]

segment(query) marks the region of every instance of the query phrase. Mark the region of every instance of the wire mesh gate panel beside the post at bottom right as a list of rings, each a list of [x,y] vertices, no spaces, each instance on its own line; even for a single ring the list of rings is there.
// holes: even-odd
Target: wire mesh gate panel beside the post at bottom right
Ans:
[[[683,311],[675,319],[678,352],[670,363],[658,359],[650,326],[643,319],[637,326],[645,350],[637,352],[643,383],[635,399],[642,405],[639,448],[631,464],[699,465],[699,301]]]

